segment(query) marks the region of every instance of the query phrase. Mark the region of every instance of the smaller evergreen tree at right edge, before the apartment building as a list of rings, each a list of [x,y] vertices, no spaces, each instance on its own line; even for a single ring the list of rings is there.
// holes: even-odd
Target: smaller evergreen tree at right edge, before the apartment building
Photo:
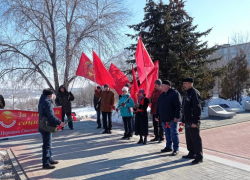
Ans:
[[[241,101],[243,89],[249,88],[250,69],[247,66],[246,55],[241,50],[227,65],[227,71],[221,83],[220,97]]]

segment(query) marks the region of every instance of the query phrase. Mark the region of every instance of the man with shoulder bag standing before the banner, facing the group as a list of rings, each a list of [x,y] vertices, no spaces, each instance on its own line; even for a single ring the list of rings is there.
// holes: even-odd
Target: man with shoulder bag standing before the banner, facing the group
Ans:
[[[39,113],[39,123],[42,117],[47,117],[50,124],[60,125],[62,127],[65,126],[63,122],[58,119],[53,110],[53,90],[52,89],[44,89],[43,94],[40,97],[39,104],[38,104],[38,113]],[[38,131],[42,135],[43,139],[43,168],[44,169],[54,169],[55,166],[52,164],[58,164],[58,161],[52,160],[52,133],[47,132],[38,128]]]

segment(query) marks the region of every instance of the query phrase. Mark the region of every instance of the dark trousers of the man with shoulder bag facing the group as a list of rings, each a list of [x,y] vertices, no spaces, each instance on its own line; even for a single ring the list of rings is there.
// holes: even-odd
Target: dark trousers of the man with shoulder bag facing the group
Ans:
[[[41,133],[43,139],[43,165],[50,164],[51,156],[52,156],[52,133]]]

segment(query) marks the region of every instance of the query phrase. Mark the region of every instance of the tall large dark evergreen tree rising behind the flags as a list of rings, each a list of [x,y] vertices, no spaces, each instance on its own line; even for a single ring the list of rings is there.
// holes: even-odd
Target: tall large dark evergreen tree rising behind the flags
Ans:
[[[196,32],[197,25],[192,25],[193,18],[187,14],[184,6],[182,0],[170,0],[167,5],[149,0],[144,8],[143,22],[129,26],[138,33],[128,36],[134,39],[141,35],[152,60],[159,60],[161,79],[171,80],[181,92],[182,79],[193,77],[195,87],[206,99],[211,96],[215,78],[222,73],[222,69],[207,68],[209,63],[219,60],[208,58],[217,49],[208,48],[207,42],[199,39],[208,35],[212,29]],[[134,55],[136,44],[127,49],[133,51]]]

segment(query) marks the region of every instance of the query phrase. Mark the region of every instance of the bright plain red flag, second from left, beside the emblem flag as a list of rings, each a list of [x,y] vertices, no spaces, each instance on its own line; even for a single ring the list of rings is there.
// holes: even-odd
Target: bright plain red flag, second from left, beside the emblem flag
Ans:
[[[95,80],[96,83],[100,86],[104,84],[108,84],[110,88],[115,88],[115,82],[112,76],[109,74],[105,66],[103,65],[100,58],[97,56],[95,51],[93,51],[93,64],[94,64],[94,72],[95,72]]]

